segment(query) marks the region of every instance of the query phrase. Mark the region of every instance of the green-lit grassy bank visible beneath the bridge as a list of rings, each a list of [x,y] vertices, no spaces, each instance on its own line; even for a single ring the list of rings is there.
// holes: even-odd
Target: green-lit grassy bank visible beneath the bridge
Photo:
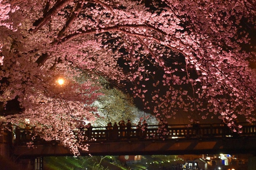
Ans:
[[[144,155],[141,162],[124,165],[119,156],[45,157],[44,170],[146,170],[176,164],[176,155]]]

